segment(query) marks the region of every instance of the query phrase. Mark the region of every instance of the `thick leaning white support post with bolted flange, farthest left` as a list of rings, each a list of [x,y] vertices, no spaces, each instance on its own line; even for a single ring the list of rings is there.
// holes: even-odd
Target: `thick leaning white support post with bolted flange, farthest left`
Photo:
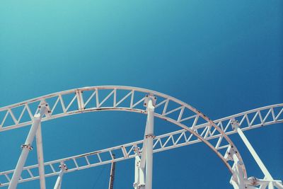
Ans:
[[[25,140],[25,144],[22,145],[23,150],[21,152],[20,158],[18,159],[18,163],[16,165],[8,189],[15,189],[18,185],[18,180],[21,177],[23,166],[25,165],[25,161],[28,157],[28,152],[30,152],[33,149],[33,147],[31,147],[31,144],[33,143],[33,139],[35,138],[35,132],[37,131],[38,126],[40,125],[42,116],[45,115],[45,110],[46,110],[45,105],[41,105],[40,112],[37,113],[33,118],[33,125],[31,125],[30,127],[30,132],[28,132],[28,137]]]

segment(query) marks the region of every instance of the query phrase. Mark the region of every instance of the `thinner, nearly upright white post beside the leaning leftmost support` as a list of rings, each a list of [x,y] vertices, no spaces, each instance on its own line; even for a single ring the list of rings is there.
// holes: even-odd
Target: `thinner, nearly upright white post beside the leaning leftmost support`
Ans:
[[[44,158],[43,158],[41,125],[38,125],[37,132],[35,134],[35,139],[36,139],[38,171],[40,175],[40,189],[45,189],[46,188],[45,187],[45,168],[44,168]]]

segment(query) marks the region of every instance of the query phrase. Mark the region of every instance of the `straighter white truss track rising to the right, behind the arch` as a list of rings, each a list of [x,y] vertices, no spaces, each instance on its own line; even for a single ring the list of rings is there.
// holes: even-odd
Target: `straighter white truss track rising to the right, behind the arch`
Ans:
[[[221,130],[223,130],[227,135],[229,134],[235,134],[236,131],[233,130],[231,126],[232,120],[238,120],[241,125],[241,130],[253,130],[258,127],[266,126],[266,125],[273,125],[276,123],[283,122],[283,104],[277,104],[277,105],[269,105],[262,108],[257,108],[254,110],[249,110],[243,113],[238,113],[236,115],[231,115],[226,118],[221,118],[219,120],[214,120],[216,125],[218,125]],[[209,126],[209,124],[202,124],[202,125],[196,125],[195,127],[201,129],[207,130],[206,128]],[[202,135],[202,134],[201,134]],[[218,142],[219,137],[221,137],[221,134],[216,134],[215,132],[211,131],[207,135],[206,139],[209,140],[209,142],[213,142],[215,139],[215,142]],[[91,168],[93,166],[100,166],[103,164],[110,164],[112,161],[122,161],[125,159],[131,159],[134,158],[134,148],[135,147],[142,147],[142,140],[137,142],[131,142],[129,144],[123,144],[117,147],[111,147],[108,149],[102,149],[99,151],[92,151],[90,153],[86,154],[80,154],[77,156],[71,156],[64,159],[58,159],[55,161],[49,161],[45,163],[45,170],[46,171],[45,176],[56,176],[59,174],[59,164],[64,161],[64,164],[67,164],[69,170],[67,172],[71,171],[77,171],[85,168]],[[193,134],[188,132],[187,130],[178,130],[175,132],[170,132],[167,134],[162,134],[157,136],[154,139],[154,152],[159,151],[165,151],[168,149],[173,149],[177,147],[183,147],[190,144],[195,144],[198,142],[202,142],[198,138],[193,138]],[[142,150],[142,149],[141,149]],[[115,154],[115,159],[113,159],[112,154]],[[25,181],[33,181],[36,179],[39,179],[38,174],[36,174],[36,170],[38,169],[38,165],[33,166],[25,166],[23,168],[23,171],[26,171],[25,176],[26,178],[21,178],[19,181],[25,182]],[[14,170],[11,171],[4,171],[0,173],[1,181],[4,181],[4,183],[1,184],[1,186],[8,185],[11,181],[11,174],[13,174]]]

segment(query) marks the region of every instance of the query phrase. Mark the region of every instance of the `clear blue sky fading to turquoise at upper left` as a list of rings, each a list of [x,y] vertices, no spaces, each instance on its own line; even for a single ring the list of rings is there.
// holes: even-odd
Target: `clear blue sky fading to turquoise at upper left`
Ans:
[[[0,106],[98,85],[160,91],[213,120],[282,103],[282,7],[281,0],[1,1]],[[145,120],[105,112],[44,122],[45,161],[141,139]],[[172,127],[157,123],[156,132]],[[282,126],[246,132],[281,180]],[[0,133],[0,171],[16,166],[27,133],[28,127]],[[246,148],[232,139],[248,176],[261,177]],[[27,164],[36,162],[35,151],[30,154]],[[62,188],[105,189],[109,169],[68,173]],[[229,179],[204,144],[154,154],[155,189],[231,188]],[[55,180],[47,178],[47,188]],[[117,163],[115,189],[132,188],[133,181],[134,159]],[[33,181],[18,188],[38,186]]]

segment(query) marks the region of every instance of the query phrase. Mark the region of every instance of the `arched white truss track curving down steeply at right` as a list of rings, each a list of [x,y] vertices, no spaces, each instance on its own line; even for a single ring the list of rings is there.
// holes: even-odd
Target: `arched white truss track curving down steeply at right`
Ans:
[[[236,151],[238,150],[220,127],[191,105],[163,93],[144,88],[129,86],[85,87],[52,93],[22,103],[8,105],[0,108],[0,113],[3,115],[3,118],[0,120],[0,132],[30,125],[33,122],[33,115],[39,110],[38,105],[42,103],[48,104],[48,113],[42,118],[42,122],[44,122],[76,113],[102,110],[122,110],[146,114],[146,105],[144,104],[146,96],[154,96],[156,98],[155,117],[172,122],[192,133],[197,139],[207,144],[222,159],[232,173],[231,165],[224,158],[224,155],[226,149],[230,146]],[[18,115],[16,115],[16,112]],[[8,118],[10,119],[8,120]],[[207,124],[207,127],[204,130],[195,127],[200,124]],[[219,140],[215,145],[206,139],[211,132],[219,134]],[[238,159],[243,161],[240,153],[237,153],[237,156]],[[246,173],[244,165],[243,169]]]

